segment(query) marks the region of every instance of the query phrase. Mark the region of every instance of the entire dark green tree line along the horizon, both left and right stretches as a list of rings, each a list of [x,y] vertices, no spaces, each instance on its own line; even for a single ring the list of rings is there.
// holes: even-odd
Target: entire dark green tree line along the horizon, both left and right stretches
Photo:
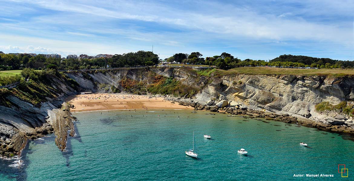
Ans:
[[[275,67],[313,67],[313,68],[354,68],[353,61],[332,60],[329,58],[314,58],[302,55],[280,55],[273,60],[240,60],[237,57],[222,53],[212,57],[202,58],[199,52],[190,54],[176,53],[166,58],[167,62],[178,62],[194,65],[209,65],[220,68],[234,68],[244,66],[275,66]],[[161,59],[160,59],[161,60]],[[0,71],[18,70],[23,68],[34,68],[42,70],[48,65],[53,65],[59,70],[81,70],[103,67],[135,67],[152,66],[159,63],[158,55],[153,52],[131,52],[126,54],[116,54],[112,58],[95,59],[59,59],[46,58],[42,55],[31,56],[29,54],[1,54],[0,53]]]

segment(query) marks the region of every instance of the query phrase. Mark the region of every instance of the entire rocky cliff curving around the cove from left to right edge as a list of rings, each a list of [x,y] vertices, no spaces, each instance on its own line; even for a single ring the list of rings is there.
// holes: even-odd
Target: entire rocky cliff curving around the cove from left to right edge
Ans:
[[[59,149],[65,150],[66,138],[74,135],[74,117],[64,99],[85,90],[167,94],[170,96],[165,99],[192,105],[196,110],[354,133],[350,117],[354,113],[354,78],[349,76],[231,74],[184,67],[119,68],[38,76],[15,87],[0,89],[1,156],[19,154],[27,139],[52,132]],[[316,111],[315,105],[324,102],[328,102],[326,105],[344,102],[346,114]]]

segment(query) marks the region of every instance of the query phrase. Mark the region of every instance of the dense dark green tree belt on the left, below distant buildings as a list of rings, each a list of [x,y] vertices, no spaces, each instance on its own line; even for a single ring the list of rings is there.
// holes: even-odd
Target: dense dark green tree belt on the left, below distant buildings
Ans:
[[[18,70],[23,68],[45,69],[56,66],[59,70],[78,70],[104,67],[134,67],[151,66],[159,63],[158,55],[152,52],[138,51],[126,54],[115,54],[112,58],[95,59],[60,59],[46,58],[42,55],[29,54],[0,54],[1,70]]]

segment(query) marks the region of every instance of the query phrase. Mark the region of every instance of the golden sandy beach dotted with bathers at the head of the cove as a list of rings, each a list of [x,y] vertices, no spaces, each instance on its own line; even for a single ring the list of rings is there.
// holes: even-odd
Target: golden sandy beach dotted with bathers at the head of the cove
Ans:
[[[75,107],[72,112],[116,109],[193,109],[165,101],[163,97],[149,98],[147,95],[128,95],[119,93],[94,93],[70,96],[67,102]]]

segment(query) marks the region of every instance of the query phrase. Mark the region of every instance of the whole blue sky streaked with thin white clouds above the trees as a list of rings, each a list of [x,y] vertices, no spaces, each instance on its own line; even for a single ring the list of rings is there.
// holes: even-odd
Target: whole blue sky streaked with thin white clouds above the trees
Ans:
[[[0,0],[4,53],[354,60],[352,0]]]

